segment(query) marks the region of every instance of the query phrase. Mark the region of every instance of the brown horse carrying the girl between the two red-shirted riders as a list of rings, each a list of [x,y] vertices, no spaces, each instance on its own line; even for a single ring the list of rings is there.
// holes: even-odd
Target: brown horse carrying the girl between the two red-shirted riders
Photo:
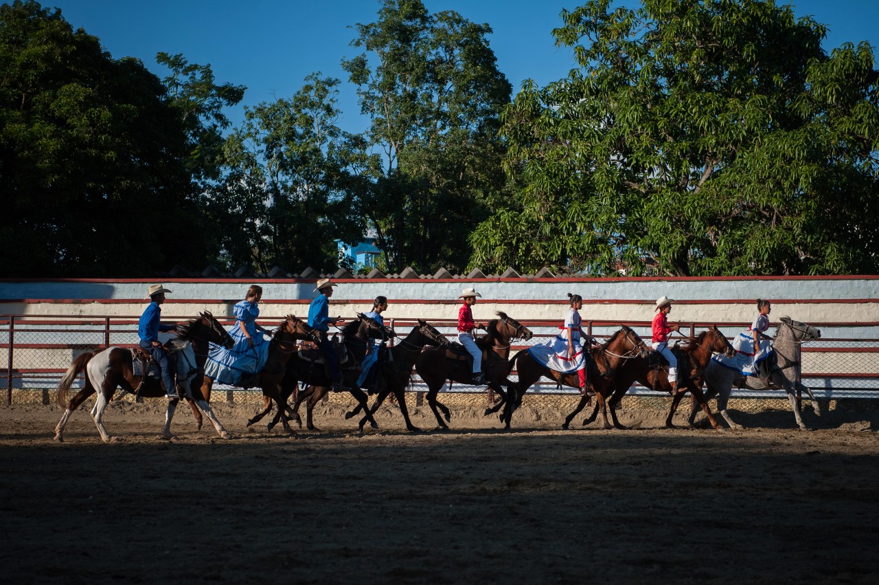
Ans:
[[[587,368],[587,379],[589,387],[595,394],[596,409],[601,406],[602,413],[605,412],[605,400],[610,395],[613,384],[610,383],[618,369],[627,362],[639,355],[647,355],[648,347],[631,328],[622,325],[621,329],[610,336],[599,347],[593,347],[589,354],[592,358]],[[564,384],[573,388],[579,387],[579,379],[577,372],[563,374],[561,372],[548,369],[542,363],[537,362],[528,353],[527,349],[523,349],[512,358],[512,363],[519,373],[519,382],[515,384],[516,399],[510,400],[511,406],[505,410],[501,417],[505,421],[505,428],[510,428],[510,419],[516,407],[522,402],[522,397],[540,377],[548,377],[556,380],[559,384]],[[588,394],[580,399],[580,404],[585,405],[590,400]],[[582,408],[582,406],[580,406]],[[606,428],[610,425],[605,418]],[[567,427],[567,422],[563,425]]]

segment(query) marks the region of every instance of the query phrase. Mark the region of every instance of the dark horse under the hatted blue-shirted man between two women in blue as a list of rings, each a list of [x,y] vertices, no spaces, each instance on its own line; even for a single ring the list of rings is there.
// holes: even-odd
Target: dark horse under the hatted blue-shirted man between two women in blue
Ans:
[[[367,394],[360,390],[356,384],[357,378],[360,377],[360,362],[363,361],[363,356],[367,353],[369,339],[387,338],[390,335],[391,333],[387,327],[381,325],[373,318],[367,317],[363,313],[358,313],[357,318],[352,319],[351,322],[345,324],[342,328],[342,339],[350,357],[347,364],[339,364],[340,369],[342,370],[342,380],[350,389],[349,391],[354,399],[356,399],[364,409],[367,408]],[[342,359],[343,356],[339,355],[339,358]],[[288,421],[299,418],[299,415],[293,410],[290,410],[287,406],[287,399],[290,398],[294,391],[298,390],[300,382],[305,382],[306,384],[322,388],[328,388],[331,386],[332,381],[329,374],[326,372],[324,365],[325,364],[323,363],[305,360],[298,353],[291,356],[290,360],[287,362],[284,375],[280,380],[279,396],[277,399],[278,412],[275,413],[274,418],[269,422],[268,430],[272,430],[272,428],[278,424],[279,420],[282,421],[284,428],[289,428]],[[271,409],[271,402],[266,399],[265,408],[251,418],[251,420],[248,420],[247,426],[250,427],[251,425],[256,424],[259,420],[262,420],[266,414],[271,412]],[[287,413],[289,413],[290,416],[287,416]],[[373,428],[378,428],[378,424],[375,422],[372,415],[367,416],[370,420],[370,425]],[[293,418],[291,419],[291,417]],[[314,428],[314,425],[312,425],[312,428]]]

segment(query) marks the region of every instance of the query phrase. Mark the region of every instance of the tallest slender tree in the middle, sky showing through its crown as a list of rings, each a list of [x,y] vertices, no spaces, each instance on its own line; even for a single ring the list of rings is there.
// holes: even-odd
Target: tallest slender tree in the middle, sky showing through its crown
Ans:
[[[371,122],[367,148],[381,176],[360,192],[389,267],[461,269],[467,236],[504,184],[499,114],[510,84],[487,35],[457,12],[435,15],[420,0],[385,0],[378,20],[358,24],[343,61]]]

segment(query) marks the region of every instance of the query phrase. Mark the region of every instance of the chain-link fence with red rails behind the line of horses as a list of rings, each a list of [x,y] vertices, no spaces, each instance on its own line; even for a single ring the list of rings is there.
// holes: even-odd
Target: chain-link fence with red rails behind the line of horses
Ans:
[[[131,347],[137,343],[137,317],[71,318],[67,316],[3,316],[0,317],[0,387],[6,389],[7,402],[14,391],[40,391],[48,395],[57,388],[70,363],[84,351],[100,347]],[[280,318],[260,318],[266,328],[280,323]],[[558,323],[523,321],[532,332],[531,340],[516,340],[511,355],[519,349],[545,343],[558,333]],[[229,328],[234,322],[223,322]],[[414,320],[394,319],[392,325],[398,334],[405,335]],[[455,339],[456,322],[432,321],[449,340]],[[598,340],[606,339],[620,325],[631,326],[643,339],[650,339],[650,323],[625,324],[607,321],[584,323],[586,333]],[[682,324],[684,335],[698,333],[708,325],[718,325],[732,338],[746,324],[688,323]],[[803,344],[803,384],[808,385],[818,399],[877,399],[879,398],[879,324],[825,323],[811,324],[822,330],[822,338]],[[684,335],[680,337],[685,339]],[[513,372],[511,379],[516,379]],[[81,386],[77,380],[76,386]],[[217,384],[215,391],[225,391],[233,399],[240,389]],[[413,390],[425,391],[425,385],[415,377]],[[483,392],[483,388],[453,384],[444,390],[453,392]],[[252,390],[250,392],[253,392]],[[572,388],[559,388],[556,383],[542,378],[528,391],[529,394],[571,394]],[[666,396],[648,388],[633,386],[630,394]],[[782,397],[783,391],[734,390],[737,398]]]

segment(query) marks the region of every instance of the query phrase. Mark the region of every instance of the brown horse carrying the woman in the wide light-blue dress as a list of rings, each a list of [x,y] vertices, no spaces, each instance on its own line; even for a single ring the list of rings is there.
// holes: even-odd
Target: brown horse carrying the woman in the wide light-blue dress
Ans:
[[[286,404],[286,400],[281,400],[280,382],[284,377],[287,369],[287,362],[298,351],[297,340],[311,340],[317,342],[320,340],[320,332],[309,324],[297,318],[295,315],[287,315],[284,322],[272,332],[272,340],[269,342],[269,353],[265,360],[265,368],[259,372],[259,388],[263,391],[263,397],[271,408],[272,400],[277,402],[278,408],[282,408]],[[204,378],[204,384],[201,386],[201,392],[206,400],[210,400],[211,389],[214,387],[214,380],[210,377]],[[251,423],[248,423],[248,427]],[[284,419],[284,430],[291,435],[295,435],[293,428],[287,424]]]

